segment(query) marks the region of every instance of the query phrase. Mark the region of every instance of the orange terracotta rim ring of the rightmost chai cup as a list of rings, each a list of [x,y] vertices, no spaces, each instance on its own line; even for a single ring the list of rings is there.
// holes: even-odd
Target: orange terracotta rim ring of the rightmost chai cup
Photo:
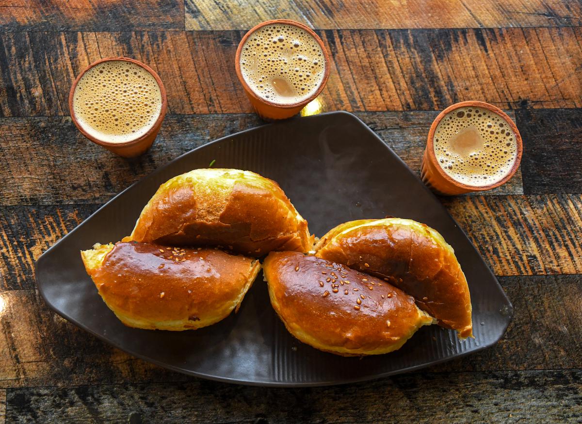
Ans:
[[[434,134],[435,134],[435,131],[437,130],[438,124],[441,122],[443,117],[448,115],[450,112],[455,111],[456,109],[464,108],[464,107],[468,107],[468,106],[474,106],[474,107],[478,107],[478,108],[482,108],[482,109],[487,109],[488,111],[494,112],[497,115],[501,116],[503,118],[503,120],[505,120],[505,122],[508,123],[509,127],[513,131],[513,134],[515,135],[515,141],[517,144],[517,153],[516,153],[515,161],[513,162],[512,168],[509,170],[508,174],[506,174],[505,177],[503,177],[499,181],[496,181],[495,183],[489,184],[488,186],[470,186],[469,184],[463,184],[463,183],[460,183],[459,181],[453,179],[441,168],[441,165],[439,165],[439,163],[437,161],[437,156],[435,155],[434,140],[433,139],[434,139]],[[426,152],[428,154],[428,158],[430,159],[430,161],[432,163],[434,163],[434,165],[435,165],[434,168],[435,168],[436,172],[438,172],[439,176],[441,176],[443,179],[448,181],[449,184],[452,184],[453,186],[461,187],[467,191],[485,191],[485,190],[491,190],[492,188],[502,186],[507,181],[509,181],[513,177],[513,175],[517,172],[517,169],[519,168],[519,165],[521,163],[521,156],[523,155],[523,141],[521,140],[521,134],[519,133],[519,130],[517,129],[516,124],[513,122],[513,119],[511,119],[507,113],[503,112],[497,106],[491,105],[489,103],[476,101],[476,100],[468,100],[468,101],[463,101],[463,102],[459,102],[459,103],[455,103],[453,105],[450,105],[444,111],[439,113],[438,116],[435,118],[435,120],[432,121],[431,128],[428,131]]]

